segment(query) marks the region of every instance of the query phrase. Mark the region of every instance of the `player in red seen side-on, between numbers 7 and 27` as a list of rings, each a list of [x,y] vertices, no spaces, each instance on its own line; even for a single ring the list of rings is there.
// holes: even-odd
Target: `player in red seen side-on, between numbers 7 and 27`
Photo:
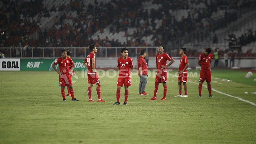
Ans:
[[[96,84],[97,85],[96,92],[98,95],[98,101],[105,102],[103,99],[101,99],[100,79],[99,79],[99,77],[97,75],[97,71],[96,71],[96,55],[95,55],[95,53],[97,53],[97,47],[95,45],[90,45],[89,49],[91,52],[87,55],[87,57],[83,61],[83,64],[85,65],[85,67],[88,68],[88,70],[87,70],[87,77],[88,77],[88,84],[89,84],[88,89],[87,89],[87,93],[88,93],[88,97],[89,97],[88,101],[95,101],[91,98],[91,88],[93,87],[94,84]]]

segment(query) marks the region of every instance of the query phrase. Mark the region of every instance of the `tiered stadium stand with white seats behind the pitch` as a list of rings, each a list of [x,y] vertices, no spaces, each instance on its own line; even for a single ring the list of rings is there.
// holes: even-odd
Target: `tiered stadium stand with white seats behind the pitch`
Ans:
[[[179,0],[172,2],[164,0],[37,0],[22,3],[14,1],[10,3],[4,0],[1,2],[0,16],[6,20],[1,23],[1,47],[18,48],[27,45],[30,47],[87,47],[91,43],[98,47],[171,45],[172,42],[201,29],[218,33],[218,30],[224,29],[238,19],[236,17],[238,10],[256,5],[253,0],[185,0],[182,2]],[[223,19],[225,21],[222,21]],[[51,26],[49,22],[52,20],[54,24]],[[46,28],[46,26],[51,27]],[[245,28],[250,28],[252,31],[248,41],[243,41],[244,36],[241,32],[244,33],[245,29],[233,34],[239,37],[237,39],[239,39],[238,43],[243,45],[243,53],[254,52],[249,47],[255,45],[253,26],[255,22]],[[38,37],[33,37],[35,33]],[[209,33],[205,33],[207,34]],[[228,43],[223,39],[218,35],[218,42],[215,45],[211,43],[210,47],[226,48]],[[190,43],[191,41],[184,46],[190,48]],[[204,45],[204,41],[200,43]],[[189,49],[188,55],[200,53],[203,48]],[[17,51],[18,49],[13,53],[14,57],[20,55]],[[175,49],[169,51],[176,52]],[[42,51],[38,50],[38,52],[42,55]],[[55,51],[49,49],[44,52],[44,55],[53,57],[53,53],[56,52],[58,49]],[[112,49],[108,52],[110,57],[115,55]],[[8,55],[8,51],[5,53]],[[30,53],[28,51],[25,56],[31,56]],[[102,53],[104,51],[99,52],[99,56],[102,56]],[[150,56],[154,53],[154,51],[148,52]],[[76,54],[82,57],[84,51],[78,49]]]

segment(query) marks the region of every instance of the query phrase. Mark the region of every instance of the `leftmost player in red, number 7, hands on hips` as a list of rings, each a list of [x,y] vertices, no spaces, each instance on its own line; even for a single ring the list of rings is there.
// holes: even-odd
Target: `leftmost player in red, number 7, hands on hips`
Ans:
[[[63,101],[66,101],[65,98],[65,86],[69,87],[70,94],[73,101],[79,101],[74,97],[74,90],[72,87],[72,81],[70,75],[72,75],[72,71],[75,67],[74,62],[71,58],[67,57],[68,52],[66,49],[61,50],[61,57],[58,58],[52,65],[53,69],[59,74],[59,86],[61,86],[61,95]],[[59,64],[59,70],[55,67],[55,65]],[[70,65],[72,65],[70,69]]]

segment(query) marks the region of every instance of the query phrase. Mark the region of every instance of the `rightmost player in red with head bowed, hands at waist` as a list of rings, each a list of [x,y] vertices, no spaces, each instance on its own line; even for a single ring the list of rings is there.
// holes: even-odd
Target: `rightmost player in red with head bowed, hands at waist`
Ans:
[[[209,91],[209,97],[212,96],[212,87],[211,87],[211,62],[212,62],[212,54],[211,49],[208,48],[203,52],[198,58],[198,64],[201,66],[200,69],[200,78],[199,78],[199,97],[202,97],[202,85],[204,80],[207,82],[207,88]]]

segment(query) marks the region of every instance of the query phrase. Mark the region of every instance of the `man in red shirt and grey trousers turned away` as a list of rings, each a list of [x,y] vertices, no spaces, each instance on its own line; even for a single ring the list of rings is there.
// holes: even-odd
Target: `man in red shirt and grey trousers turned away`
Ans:
[[[147,52],[142,50],[138,59],[138,74],[140,76],[140,84],[139,84],[139,95],[148,95],[145,93],[145,87],[147,84],[147,62],[145,57]]]

